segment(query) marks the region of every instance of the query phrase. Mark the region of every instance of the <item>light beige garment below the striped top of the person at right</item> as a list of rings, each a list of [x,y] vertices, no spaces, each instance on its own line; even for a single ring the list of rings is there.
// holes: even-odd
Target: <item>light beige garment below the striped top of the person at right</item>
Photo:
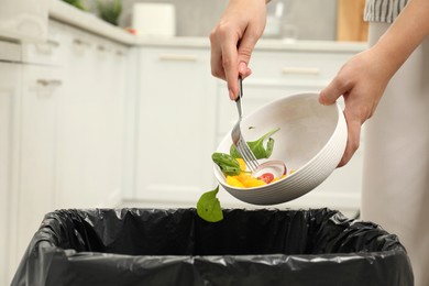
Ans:
[[[370,23],[370,44],[386,31]],[[429,38],[391,80],[364,128],[362,219],[399,237],[429,286]]]

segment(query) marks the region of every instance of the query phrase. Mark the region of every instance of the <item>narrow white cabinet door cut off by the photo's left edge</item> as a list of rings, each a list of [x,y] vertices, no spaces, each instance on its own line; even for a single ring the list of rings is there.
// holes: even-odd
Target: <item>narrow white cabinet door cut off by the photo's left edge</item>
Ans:
[[[20,96],[20,65],[0,63],[0,285],[9,285],[15,268],[11,265],[9,242],[12,228],[13,103]]]

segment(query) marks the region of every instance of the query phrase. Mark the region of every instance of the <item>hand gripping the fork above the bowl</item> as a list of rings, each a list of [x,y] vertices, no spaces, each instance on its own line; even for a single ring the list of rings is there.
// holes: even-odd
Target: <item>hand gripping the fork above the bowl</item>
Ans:
[[[230,0],[211,31],[211,74],[227,80],[229,96],[239,94],[239,75],[248,77],[253,48],[265,29],[265,0]]]

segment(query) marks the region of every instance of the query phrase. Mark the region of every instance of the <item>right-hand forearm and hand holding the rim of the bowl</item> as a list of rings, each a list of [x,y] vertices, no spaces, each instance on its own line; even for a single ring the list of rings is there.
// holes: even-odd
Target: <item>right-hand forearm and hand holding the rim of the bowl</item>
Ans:
[[[374,113],[391,78],[429,36],[428,13],[429,1],[408,1],[378,42],[345,63],[320,92],[322,105],[332,105],[340,96],[344,97],[349,136],[339,167],[345,165],[358,150],[361,125]]]

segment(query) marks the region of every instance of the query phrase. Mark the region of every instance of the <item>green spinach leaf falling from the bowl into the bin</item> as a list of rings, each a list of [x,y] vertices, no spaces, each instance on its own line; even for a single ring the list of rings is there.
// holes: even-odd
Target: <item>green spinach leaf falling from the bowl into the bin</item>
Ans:
[[[201,195],[197,202],[198,216],[208,222],[218,222],[223,219],[222,208],[220,201],[216,197],[219,191],[219,186],[216,189],[207,191]]]

